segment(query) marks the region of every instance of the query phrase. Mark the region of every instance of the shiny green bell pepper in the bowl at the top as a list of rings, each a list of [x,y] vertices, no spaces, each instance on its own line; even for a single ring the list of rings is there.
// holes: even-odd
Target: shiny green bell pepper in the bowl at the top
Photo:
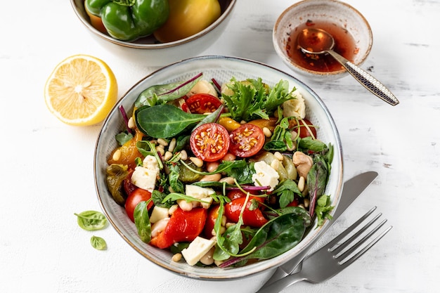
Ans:
[[[122,41],[153,34],[169,15],[168,0],[85,0],[85,5],[111,37]]]

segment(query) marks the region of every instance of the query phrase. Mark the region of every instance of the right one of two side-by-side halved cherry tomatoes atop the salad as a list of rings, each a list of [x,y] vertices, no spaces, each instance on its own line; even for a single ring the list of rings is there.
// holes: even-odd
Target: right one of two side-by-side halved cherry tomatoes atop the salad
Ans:
[[[237,157],[251,157],[263,148],[265,136],[263,130],[253,124],[243,124],[231,132],[229,151]]]

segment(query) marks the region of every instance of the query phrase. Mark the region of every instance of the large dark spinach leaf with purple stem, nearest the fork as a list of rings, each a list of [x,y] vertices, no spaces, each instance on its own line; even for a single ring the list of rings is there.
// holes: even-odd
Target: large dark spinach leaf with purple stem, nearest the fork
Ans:
[[[271,259],[295,247],[302,240],[306,226],[302,216],[283,214],[271,219],[259,228],[249,244],[240,254],[251,252],[245,256],[228,259],[220,265],[221,268],[244,264],[249,259]]]

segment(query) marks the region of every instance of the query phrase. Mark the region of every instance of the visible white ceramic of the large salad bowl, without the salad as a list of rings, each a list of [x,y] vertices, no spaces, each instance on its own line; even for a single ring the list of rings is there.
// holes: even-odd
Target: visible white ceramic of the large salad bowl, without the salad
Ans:
[[[325,194],[331,196],[333,205],[337,205],[342,192],[342,146],[339,141],[339,134],[335,122],[321,98],[309,89],[308,86],[295,79],[295,77],[276,70],[273,67],[251,60],[224,56],[191,58],[163,67],[134,84],[124,97],[119,100],[115,105],[115,108],[112,109],[103,122],[96,143],[94,171],[98,200],[111,225],[117,230],[117,233],[127,241],[129,246],[136,249],[139,254],[146,259],[153,261],[153,263],[156,263],[162,268],[166,268],[169,271],[186,277],[200,280],[233,280],[255,275],[257,273],[264,273],[265,277],[268,278],[271,273],[273,273],[273,269],[296,256],[302,249],[304,249],[304,247],[309,245],[309,242],[313,240],[313,238],[319,237],[323,228],[329,225],[329,222],[326,221],[321,228],[311,228],[302,242],[299,242],[296,247],[273,259],[259,261],[240,268],[222,269],[216,267],[202,268],[199,266],[189,266],[184,261],[173,262],[171,252],[157,249],[142,242],[138,237],[136,226],[130,221],[124,208],[120,207],[112,199],[105,184],[105,169],[108,166],[106,161],[110,152],[117,147],[115,134],[125,129],[124,121],[118,110],[119,106],[122,105],[124,109],[127,110],[128,115],[131,115],[133,103],[139,93],[144,89],[156,84],[183,82],[200,72],[203,73],[204,79],[210,80],[215,78],[219,83],[228,82],[231,77],[235,77],[238,80],[247,78],[257,79],[258,77],[261,77],[263,82],[266,82],[270,86],[273,86],[281,79],[287,80],[292,88],[293,86],[296,86],[306,100],[307,117],[313,124],[319,125],[318,137],[325,143],[332,143],[335,148],[332,170],[330,172],[330,179]],[[316,225],[316,223],[314,223],[314,225]],[[264,278],[264,276],[261,278]]]

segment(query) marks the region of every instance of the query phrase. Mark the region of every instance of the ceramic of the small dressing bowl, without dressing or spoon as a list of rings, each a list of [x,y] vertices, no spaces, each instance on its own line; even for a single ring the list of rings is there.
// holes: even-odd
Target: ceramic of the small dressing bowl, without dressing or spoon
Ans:
[[[304,0],[287,8],[273,27],[273,46],[281,60],[294,72],[302,76],[325,82],[347,76],[349,73],[343,68],[332,72],[319,72],[310,70],[295,63],[287,56],[286,46],[291,34],[301,30],[307,21],[327,22],[331,25],[347,30],[354,39],[357,53],[354,54],[353,63],[361,65],[370,53],[373,46],[373,33],[368,21],[355,8],[347,3],[337,0]],[[319,28],[316,25],[316,28]]]

